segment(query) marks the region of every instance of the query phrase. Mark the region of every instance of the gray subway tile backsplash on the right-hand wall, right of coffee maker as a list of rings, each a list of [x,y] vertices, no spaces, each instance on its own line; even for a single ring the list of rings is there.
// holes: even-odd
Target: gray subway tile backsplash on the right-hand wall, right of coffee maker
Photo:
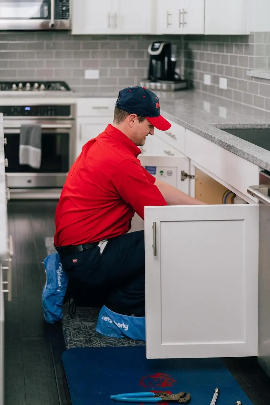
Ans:
[[[260,109],[270,109],[270,80],[261,81],[247,75],[250,69],[270,69],[270,32],[239,36],[206,35],[200,36],[200,42],[196,36],[189,35],[184,36],[184,42],[185,52],[189,50],[190,58],[194,60],[195,88]],[[204,86],[204,73],[211,74],[211,66],[200,61],[208,60],[209,55],[215,61],[216,70],[212,75],[212,85]],[[219,89],[220,76],[227,77],[227,90]]]

